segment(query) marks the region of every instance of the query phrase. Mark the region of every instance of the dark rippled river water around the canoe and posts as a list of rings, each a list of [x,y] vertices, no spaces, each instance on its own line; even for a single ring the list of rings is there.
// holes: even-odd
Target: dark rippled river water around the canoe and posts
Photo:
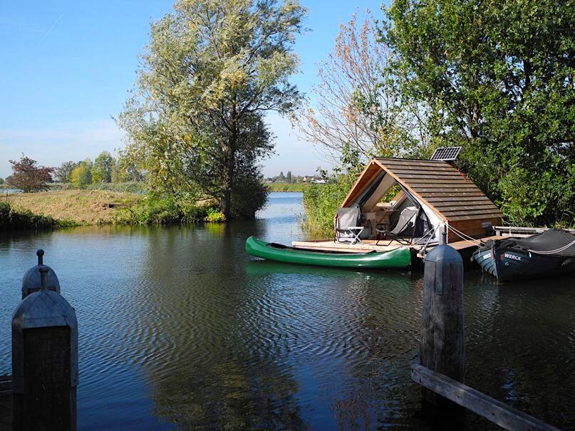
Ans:
[[[304,237],[302,212],[301,194],[273,193],[254,222],[0,237],[0,374],[43,248],[78,314],[80,430],[427,429],[410,381],[423,274],[245,254],[249,235]],[[575,430],[574,284],[466,271],[467,384]]]

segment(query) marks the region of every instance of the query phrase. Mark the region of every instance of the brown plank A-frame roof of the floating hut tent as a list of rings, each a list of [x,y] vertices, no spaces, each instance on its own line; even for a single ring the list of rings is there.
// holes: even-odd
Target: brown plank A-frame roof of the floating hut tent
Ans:
[[[373,158],[343,200],[347,207],[385,170],[443,220],[503,217],[491,200],[456,167],[439,160]]]

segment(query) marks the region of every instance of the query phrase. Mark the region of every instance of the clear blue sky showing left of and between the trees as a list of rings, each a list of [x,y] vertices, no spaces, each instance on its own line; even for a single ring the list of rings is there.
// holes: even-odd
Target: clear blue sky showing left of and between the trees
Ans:
[[[341,22],[381,1],[301,0],[309,9],[296,51],[301,72],[293,81],[304,93],[316,82]],[[94,158],[123,147],[112,117],[135,81],[138,53],[150,22],[170,11],[172,0],[0,2],[0,177],[22,152],[41,165]],[[276,155],[264,160],[265,175],[280,170],[309,174],[321,159],[298,140],[288,120],[270,115]]]

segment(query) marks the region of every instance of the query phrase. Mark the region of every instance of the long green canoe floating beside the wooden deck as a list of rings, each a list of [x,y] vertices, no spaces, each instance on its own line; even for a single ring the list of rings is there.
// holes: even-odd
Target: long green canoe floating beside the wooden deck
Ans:
[[[402,269],[411,264],[411,253],[406,247],[368,253],[341,253],[294,249],[249,237],[246,240],[246,251],[252,256],[272,261],[338,268]]]

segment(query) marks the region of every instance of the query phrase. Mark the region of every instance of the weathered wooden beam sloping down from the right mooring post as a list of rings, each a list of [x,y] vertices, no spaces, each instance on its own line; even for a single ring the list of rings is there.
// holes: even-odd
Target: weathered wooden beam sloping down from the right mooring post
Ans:
[[[494,400],[480,391],[459,383],[447,375],[435,373],[423,365],[411,366],[411,378],[424,388],[443,398],[471,410],[477,415],[511,431],[559,431],[542,420],[527,415],[501,401]]]

